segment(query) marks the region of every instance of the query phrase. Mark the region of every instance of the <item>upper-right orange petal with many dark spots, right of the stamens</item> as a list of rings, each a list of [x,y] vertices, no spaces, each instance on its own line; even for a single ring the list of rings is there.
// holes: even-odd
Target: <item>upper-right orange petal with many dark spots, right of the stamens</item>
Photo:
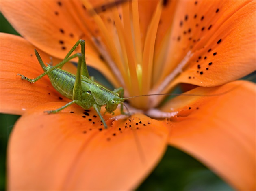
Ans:
[[[180,1],[166,70],[158,79],[174,70],[187,54],[193,56],[183,60],[187,63],[184,72],[165,90],[177,83],[222,85],[256,70],[255,3]]]

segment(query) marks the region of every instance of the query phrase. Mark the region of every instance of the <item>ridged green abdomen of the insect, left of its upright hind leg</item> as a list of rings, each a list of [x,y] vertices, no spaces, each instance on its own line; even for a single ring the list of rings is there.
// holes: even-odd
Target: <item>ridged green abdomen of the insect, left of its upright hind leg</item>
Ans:
[[[55,69],[48,74],[52,86],[63,96],[72,100],[76,76],[61,69]]]

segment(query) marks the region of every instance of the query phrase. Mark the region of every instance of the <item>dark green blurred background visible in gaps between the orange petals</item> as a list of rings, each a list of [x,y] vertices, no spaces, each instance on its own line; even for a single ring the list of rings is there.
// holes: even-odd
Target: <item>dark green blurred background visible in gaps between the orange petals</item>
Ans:
[[[0,15],[0,32],[19,35],[2,14]],[[89,72],[90,75],[95,76],[98,81],[104,84],[105,80],[102,80],[104,77],[99,72],[94,69],[90,69]],[[255,76],[255,74],[253,75]],[[15,121],[19,117],[17,115],[0,114],[0,190],[5,190],[7,181],[6,151],[8,138]],[[233,189],[197,160],[178,149],[169,147],[161,162],[137,190],[232,191]]]

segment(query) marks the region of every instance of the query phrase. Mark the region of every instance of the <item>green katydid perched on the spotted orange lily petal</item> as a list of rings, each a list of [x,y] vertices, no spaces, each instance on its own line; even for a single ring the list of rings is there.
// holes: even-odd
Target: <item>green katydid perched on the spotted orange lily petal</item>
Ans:
[[[81,53],[76,53],[70,56],[79,44],[81,45]],[[41,67],[43,68],[44,73],[39,75],[35,79],[29,79],[21,74],[17,75],[21,76],[21,79],[25,79],[30,83],[35,83],[43,76],[48,75],[53,87],[63,96],[72,100],[61,108],[45,112],[56,113],[74,103],[78,104],[84,109],[89,109],[93,107],[94,110],[98,113],[100,119],[102,120],[104,127],[107,128],[106,122],[100,114],[101,106],[106,105],[106,112],[114,114],[113,111],[115,111],[117,106],[120,103],[122,104],[125,100],[125,98],[122,98],[124,95],[124,90],[122,87],[120,87],[118,89],[115,89],[114,91],[110,91],[96,83],[93,78],[89,76],[85,62],[85,41],[78,40],[78,42],[76,42],[76,44],[74,45],[74,47],[72,47],[69,53],[67,53],[63,61],[56,66],[49,65],[46,67],[39,53],[36,50],[35,55]],[[78,57],[76,76],[58,68],[61,68],[65,63],[75,57]],[[121,113],[124,113],[122,106]]]

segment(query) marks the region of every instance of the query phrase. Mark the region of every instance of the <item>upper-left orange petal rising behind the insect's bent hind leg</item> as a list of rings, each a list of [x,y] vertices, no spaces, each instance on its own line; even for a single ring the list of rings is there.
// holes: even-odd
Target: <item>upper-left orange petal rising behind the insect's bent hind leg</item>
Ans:
[[[87,64],[118,85],[93,45],[91,33],[86,27],[92,25],[93,19],[87,12],[86,23],[83,23],[85,9],[82,2],[2,1],[1,12],[31,44],[59,59],[63,59],[80,38],[84,39]],[[75,52],[80,52],[80,46]]]

